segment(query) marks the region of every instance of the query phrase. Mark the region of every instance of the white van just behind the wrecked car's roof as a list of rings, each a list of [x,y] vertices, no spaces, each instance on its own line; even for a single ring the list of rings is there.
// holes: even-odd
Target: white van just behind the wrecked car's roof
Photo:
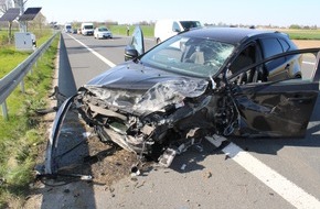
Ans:
[[[200,21],[186,20],[158,20],[154,25],[154,38],[157,44],[177,35],[179,32],[191,28],[202,26]]]

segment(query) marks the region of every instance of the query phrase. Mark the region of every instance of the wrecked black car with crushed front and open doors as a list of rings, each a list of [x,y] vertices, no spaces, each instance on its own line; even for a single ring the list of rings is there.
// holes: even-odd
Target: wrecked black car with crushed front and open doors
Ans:
[[[71,107],[103,142],[163,166],[206,136],[305,135],[319,92],[320,48],[298,50],[286,34],[234,28],[196,29],[143,48],[137,28],[127,62],[60,107],[46,173],[56,170],[52,156]],[[302,69],[306,53],[317,56],[310,76]]]

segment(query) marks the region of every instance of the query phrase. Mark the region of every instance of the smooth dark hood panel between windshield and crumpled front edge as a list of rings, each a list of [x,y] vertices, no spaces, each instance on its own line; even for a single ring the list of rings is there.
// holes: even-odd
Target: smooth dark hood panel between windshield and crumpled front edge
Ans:
[[[95,86],[119,89],[149,89],[157,82],[183,79],[183,76],[171,74],[154,67],[136,64],[132,61],[106,70],[88,81],[85,87]]]

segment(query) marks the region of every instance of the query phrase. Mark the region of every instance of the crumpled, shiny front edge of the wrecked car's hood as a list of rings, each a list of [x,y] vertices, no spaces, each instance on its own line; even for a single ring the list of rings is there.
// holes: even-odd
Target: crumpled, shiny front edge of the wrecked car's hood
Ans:
[[[200,97],[207,89],[207,85],[206,80],[190,78],[158,82],[145,92],[94,86],[89,86],[88,90],[92,92],[89,97],[94,95],[107,107],[143,114],[161,110],[169,105],[182,103],[184,98]]]

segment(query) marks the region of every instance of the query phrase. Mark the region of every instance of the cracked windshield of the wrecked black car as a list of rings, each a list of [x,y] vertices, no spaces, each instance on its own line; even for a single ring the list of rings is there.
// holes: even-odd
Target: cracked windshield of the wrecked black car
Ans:
[[[234,45],[202,37],[183,35],[163,42],[141,57],[143,64],[190,76],[214,76]]]

